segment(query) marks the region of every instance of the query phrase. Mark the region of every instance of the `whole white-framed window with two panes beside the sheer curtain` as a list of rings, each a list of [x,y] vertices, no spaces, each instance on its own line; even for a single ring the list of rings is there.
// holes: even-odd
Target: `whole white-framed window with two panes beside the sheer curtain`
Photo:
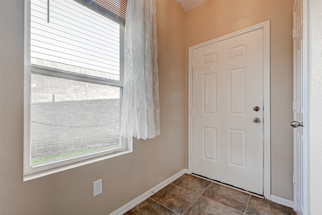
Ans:
[[[24,180],[131,152],[120,135],[125,17],[111,2],[124,12],[124,0],[26,1]]]

